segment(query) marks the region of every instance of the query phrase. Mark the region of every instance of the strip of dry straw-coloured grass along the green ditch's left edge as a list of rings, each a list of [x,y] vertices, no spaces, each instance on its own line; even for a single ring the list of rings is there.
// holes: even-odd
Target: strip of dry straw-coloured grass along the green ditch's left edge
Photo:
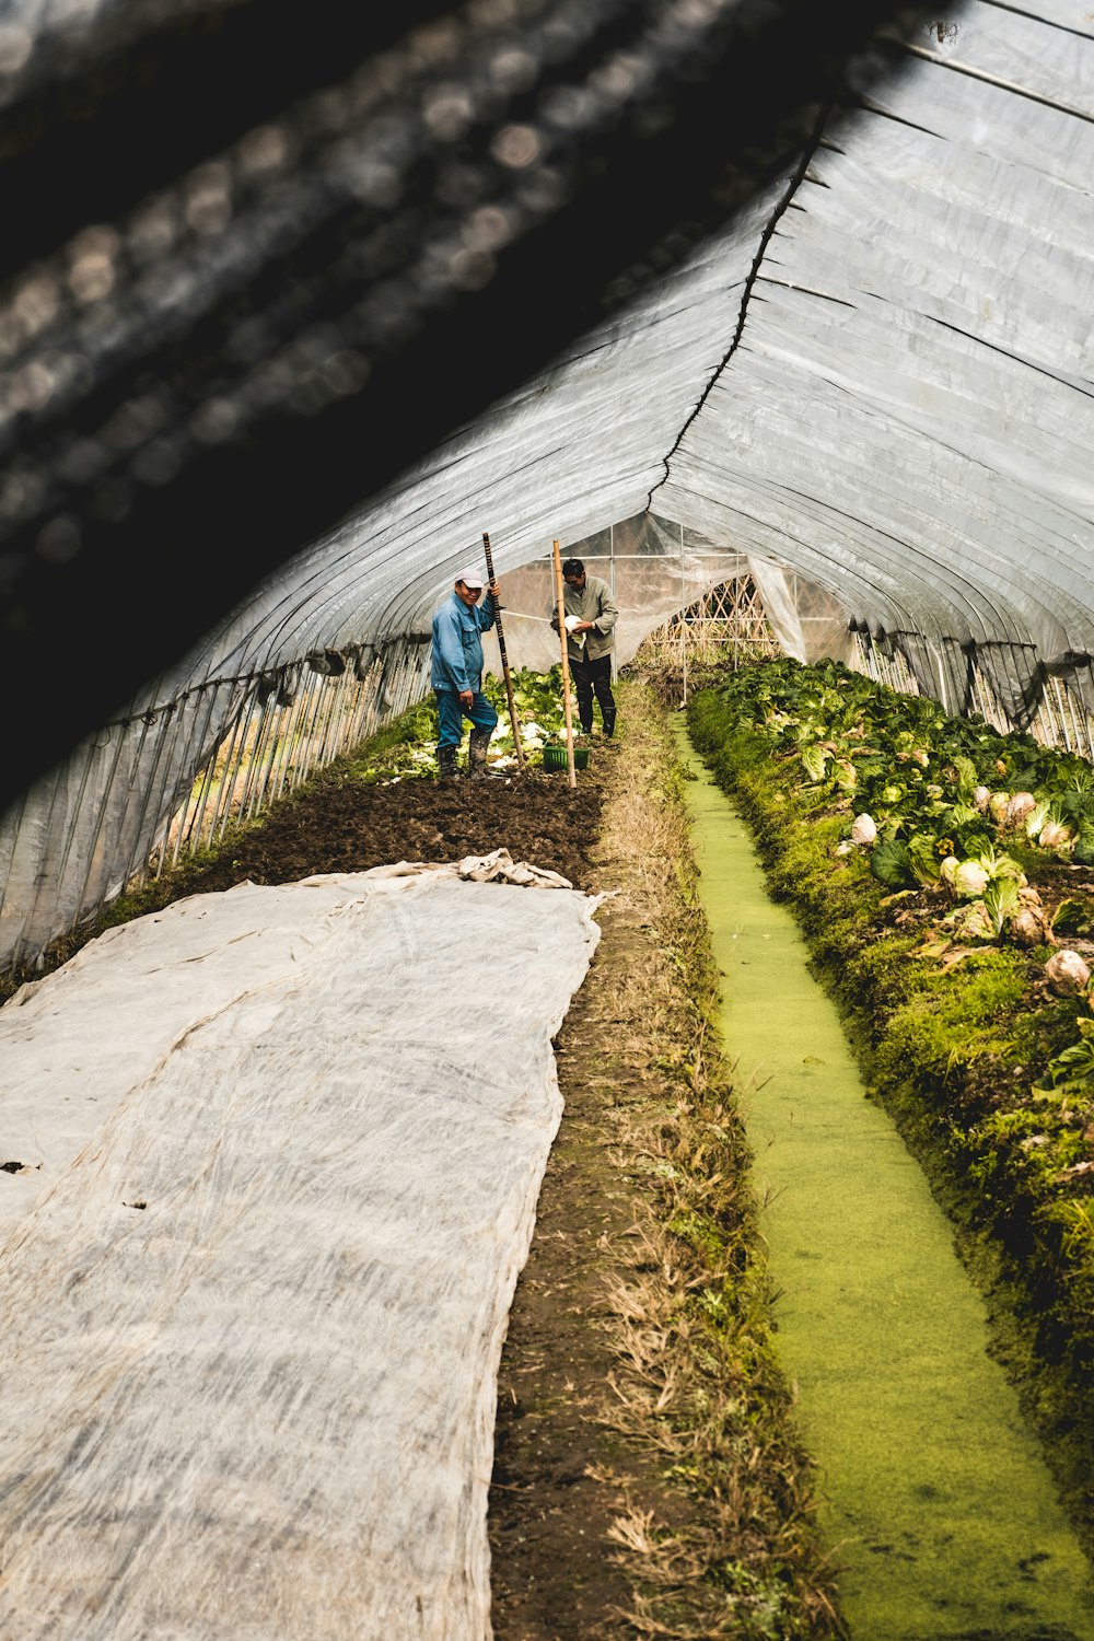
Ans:
[[[602,848],[617,916],[654,937],[602,976],[597,1016],[661,1098],[615,1108],[615,1162],[650,1190],[607,1280],[617,1367],[600,1418],[654,1452],[686,1506],[659,1523],[625,1500],[610,1538],[635,1593],[618,1616],[631,1634],[681,1641],[840,1636],[814,1472],[771,1346],[672,732],[645,684],[627,689],[623,714]]]

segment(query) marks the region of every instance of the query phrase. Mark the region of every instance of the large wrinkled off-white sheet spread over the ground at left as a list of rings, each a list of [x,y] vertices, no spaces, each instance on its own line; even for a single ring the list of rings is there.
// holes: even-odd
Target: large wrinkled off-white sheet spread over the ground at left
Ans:
[[[241,884],[0,1011],[5,1638],[489,1634],[594,909],[504,852]]]

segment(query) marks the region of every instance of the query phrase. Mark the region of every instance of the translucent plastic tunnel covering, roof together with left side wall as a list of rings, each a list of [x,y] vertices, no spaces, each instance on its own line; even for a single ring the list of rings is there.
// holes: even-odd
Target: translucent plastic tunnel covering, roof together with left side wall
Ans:
[[[613,560],[620,660],[746,563],[792,655],[858,633],[950,711],[974,673],[1019,727],[1048,678],[1094,709],[1094,23],[969,0],[945,25],[28,793],[0,825],[0,957],[36,957],[139,866],[262,679],[338,650],[379,658],[381,712],[423,694],[431,617],[484,530],[515,665],[554,658],[558,538],[594,573]]]

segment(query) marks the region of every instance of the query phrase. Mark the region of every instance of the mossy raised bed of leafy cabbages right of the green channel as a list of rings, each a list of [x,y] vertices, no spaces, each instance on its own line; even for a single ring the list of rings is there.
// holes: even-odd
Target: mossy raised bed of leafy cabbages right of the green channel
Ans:
[[[1094,871],[1074,845],[1094,771],[833,663],[738,673],[694,697],[689,727],[750,824],[771,893],[805,934],[868,1088],[953,1219],[991,1300],[994,1349],[1089,1551],[1094,1016],[1086,998],[1050,990],[1045,963],[1056,945],[1083,948],[1078,930],[1094,927]],[[840,761],[863,771],[851,789]],[[996,824],[974,807],[978,783],[1022,783],[1038,807],[1056,806],[1071,843],[1046,850],[1009,830],[1005,814]],[[873,850],[851,842],[863,812],[912,862],[900,886],[879,881]],[[943,845],[989,870],[1012,860],[1004,870],[1035,891],[1040,932],[1022,942],[1001,917],[966,934],[969,901],[937,876]],[[1051,932],[1058,911],[1076,934]]]

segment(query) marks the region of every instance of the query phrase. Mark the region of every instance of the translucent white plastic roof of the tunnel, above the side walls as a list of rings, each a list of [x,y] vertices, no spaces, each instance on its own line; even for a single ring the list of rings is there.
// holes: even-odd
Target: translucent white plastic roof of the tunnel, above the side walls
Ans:
[[[481,530],[505,574],[648,504],[920,635],[925,671],[943,638],[1027,645],[1028,678],[1086,655],[1094,30],[1042,11],[912,41],[838,144],[305,555],[295,627],[425,629]],[[266,597],[238,661],[294,633]]]

